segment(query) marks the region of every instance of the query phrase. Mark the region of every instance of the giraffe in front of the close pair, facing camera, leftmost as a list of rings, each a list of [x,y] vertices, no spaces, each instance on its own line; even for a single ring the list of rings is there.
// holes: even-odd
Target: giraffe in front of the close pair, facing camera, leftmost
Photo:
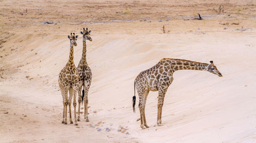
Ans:
[[[69,116],[70,116],[70,124],[73,124],[72,116],[71,116],[71,100],[74,96],[73,106],[74,106],[74,116],[75,116],[75,126],[77,126],[76,120],[76,92],[78,88],[78,77],[79,73],[74,64],[74,46],[76,46],[76,40],[78,36],[75,36],[75,33],[70,34],[68,38],[70,39],[70,53],[69,53],[69,61],[66,66],[59,73],[59,88],[63,99],[63,119],[62,123],[67,125],[67,107],[69,105]],[[69,99],[68,99],[68,91],[69,91]]]

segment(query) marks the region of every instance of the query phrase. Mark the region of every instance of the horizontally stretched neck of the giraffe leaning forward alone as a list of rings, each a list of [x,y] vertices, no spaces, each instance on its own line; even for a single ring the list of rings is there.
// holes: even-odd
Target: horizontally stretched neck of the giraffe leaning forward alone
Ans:
[[[193,61],[187,61],[187,60],[172,60],[170,63],[170,68],[173,70],[173,72],[177,70],[206,70],[208,64],[206,63],[198,63]]]

